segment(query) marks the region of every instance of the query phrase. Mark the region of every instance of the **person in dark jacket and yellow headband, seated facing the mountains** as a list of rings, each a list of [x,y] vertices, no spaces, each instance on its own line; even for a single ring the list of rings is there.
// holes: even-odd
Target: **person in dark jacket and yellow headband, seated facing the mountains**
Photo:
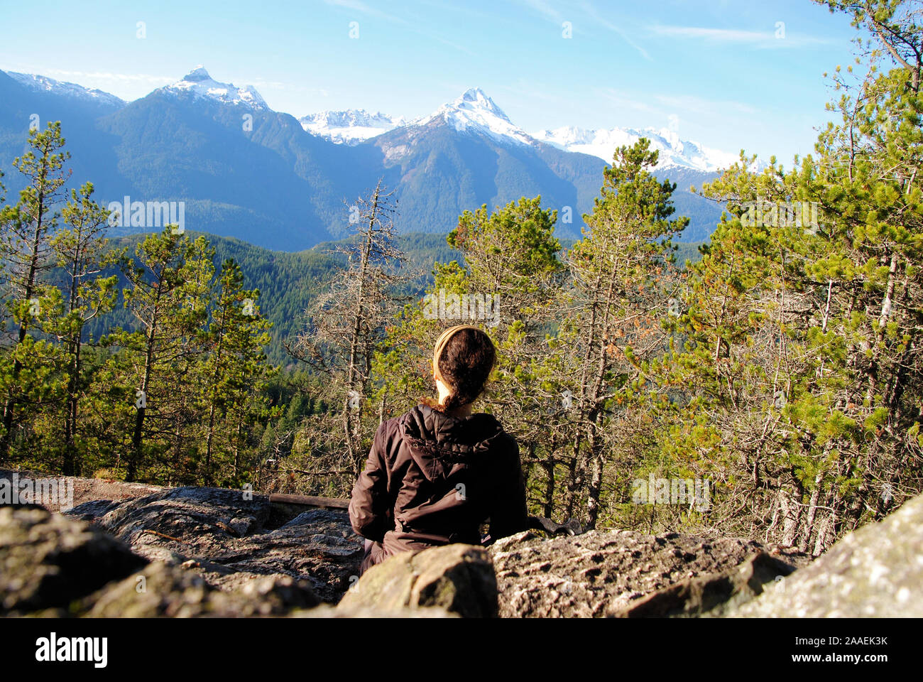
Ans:
[[[361,571],[391,554],[450,542],[482,543],[528,527],[519,445],[489,414],[472,413],[496,350],[477,327],[439,336],[433,352],[438,401],[378,427],[349,505],[366,538]]]

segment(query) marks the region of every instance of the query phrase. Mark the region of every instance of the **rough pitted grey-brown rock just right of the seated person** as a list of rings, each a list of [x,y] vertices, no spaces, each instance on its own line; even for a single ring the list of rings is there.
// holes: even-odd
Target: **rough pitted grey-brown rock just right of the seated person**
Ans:
[[[701,615],[809,562],[792,548],[739,538],[629,530],[550,540],[524,531],[498,540],[490,554],[506,617]],[[755,574],[746,566],[741,573],[762,554]]]

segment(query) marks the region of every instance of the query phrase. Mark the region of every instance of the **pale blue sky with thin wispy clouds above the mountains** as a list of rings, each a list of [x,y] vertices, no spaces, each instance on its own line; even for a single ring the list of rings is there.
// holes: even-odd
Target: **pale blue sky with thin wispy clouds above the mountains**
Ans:
[[[198,64],[294,116],[423,116],[478,86],[529,132],[672,121],[786,165],[830,118],[822,74],[852,62],[856,35],[809,0],[5,1],[2,16],[0,68],[126,100]]]

